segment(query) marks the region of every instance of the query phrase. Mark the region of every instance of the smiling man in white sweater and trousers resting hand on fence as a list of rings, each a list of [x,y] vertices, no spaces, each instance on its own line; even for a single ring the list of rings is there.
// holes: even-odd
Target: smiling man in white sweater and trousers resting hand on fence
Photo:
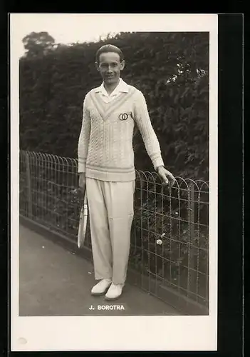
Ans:
[[[103,84],[89,91],[83,102],[78,173],[79,186],[88,193],[95,279],[100,280],[91,293],[113,300],[122,294],[130,253],[135,125],[162,181],[172,184],[175,178],[164,167],[145,97],[120,79],[125,66],[122,51],[102,46],[95,64]]]

